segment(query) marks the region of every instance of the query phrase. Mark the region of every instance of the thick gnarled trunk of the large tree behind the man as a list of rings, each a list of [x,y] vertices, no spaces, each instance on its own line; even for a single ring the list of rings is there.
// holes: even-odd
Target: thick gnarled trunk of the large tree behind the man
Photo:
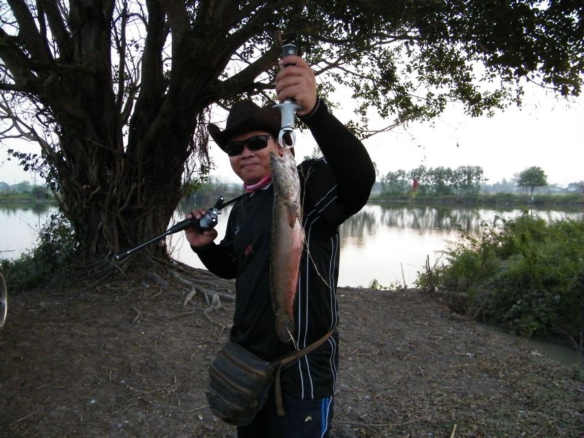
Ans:
[[[195,47],[194,40],[175,36],[175,65],[170,78],[164,76],[164,11],[161,3],[148,3],[142,87],[137,98],[129,98],[135,109],[124,133],[120,88],[111,74],[111,9],[103,7],[98,1],[71,4],[72,38],[63,56],[77,67],[47,74],[39,94],[59,138],[58,148],[47,144],[43,153],[60,184],[58,199],[80,256],[88,261],[105,261],[166,230],[181,199],[185,163],[206,146],[206,135],[197,131],[199,117],[216,98],[208,91],[208,63],[218,56],[209,53],[210,41]],[[204,61],[196,63],[195,54],[205,54]],[[203,141],[196,143],[199,135]],[[145,250],[166,255],[161,245]]]

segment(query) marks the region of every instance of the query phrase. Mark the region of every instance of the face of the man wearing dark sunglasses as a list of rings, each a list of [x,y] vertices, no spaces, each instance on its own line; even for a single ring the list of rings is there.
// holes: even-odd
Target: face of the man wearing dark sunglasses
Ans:
[[[234,135],[229,139],[231,142],[243,142],[256,135],[271,135],[267,131],[250,131],[243,134]],[[278,143],[274,138],[269,138],[267,146],[258,151],[250,151],[247,144],[239,155],[229,157],[233,171],[238,177],[243,179],[245,184],[256,184],[260,179],[271,172],[270,152],[281,155],[278,151]]]

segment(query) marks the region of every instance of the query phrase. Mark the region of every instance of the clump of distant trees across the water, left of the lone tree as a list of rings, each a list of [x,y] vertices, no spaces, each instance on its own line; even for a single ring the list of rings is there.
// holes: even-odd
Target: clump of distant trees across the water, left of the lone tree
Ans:
[[[389,172],[381,178],[381,193],[384,195],[403,195],[417,192],[420,195],[467,195],[480,191],[486,181],[480,166],[460,166],[426,168],[418,166],[411,171],[402,169]]]

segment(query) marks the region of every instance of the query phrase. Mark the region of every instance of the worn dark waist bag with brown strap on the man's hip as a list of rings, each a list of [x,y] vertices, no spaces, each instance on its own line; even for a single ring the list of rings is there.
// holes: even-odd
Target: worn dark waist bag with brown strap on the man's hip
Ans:
[[[235,426],[251,424],[264,406],[274,381],[278,415],[286,415],[280,371],[320,347],[331,334],[333,330],[308,347],[271,362],[229,340],[209,367],[209,386],[205,395],[214,415]]]

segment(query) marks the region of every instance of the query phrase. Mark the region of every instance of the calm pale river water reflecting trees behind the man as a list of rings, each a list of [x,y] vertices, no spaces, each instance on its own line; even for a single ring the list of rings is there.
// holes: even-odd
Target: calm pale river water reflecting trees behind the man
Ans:
[[[229,208],[219,217],[217,230],[222,237]],[[34,248],[38,230],[54,208],[7,208],[0,206],[0,257],[15,259]],[[340,228],[341,261],[339,286],[368,287],[372,281],[381,286],[404,283],[412,286],[426,258],[430,265],[440,263],[440,251],[449,241],[458,239],[460,224],[464,230],[478,232],[482,220],[495,215],[506,219],[517,217],[521,210],[506,212],[484,208],[434,208],[428,206],[366,205]],[[542,217],[568,216],[582,218],[583,213],[543,211]],[[451,218],[451,219],[450,219]],[[177,214],[177,220],[181,219]],[[172,256],[194,267],[203,267],[190,250],[183,233],[172,235],[168,242]]]

